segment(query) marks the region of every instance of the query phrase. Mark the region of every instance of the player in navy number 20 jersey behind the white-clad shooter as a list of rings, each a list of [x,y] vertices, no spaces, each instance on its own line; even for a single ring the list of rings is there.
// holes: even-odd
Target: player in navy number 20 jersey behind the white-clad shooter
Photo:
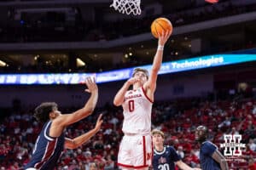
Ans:
[[[154,129],[152,136],[154,144],[152,164],[154,170],[175,170],[175,165],[183,170],[201,170],[200,168],[189,167],[181,160],[172,146],[164,145],[165,134],[162,131]]]

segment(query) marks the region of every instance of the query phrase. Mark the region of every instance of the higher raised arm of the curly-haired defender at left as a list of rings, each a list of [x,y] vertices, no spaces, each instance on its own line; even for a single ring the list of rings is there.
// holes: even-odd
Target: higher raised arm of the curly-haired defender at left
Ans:
[[[90,98],[88,99],[84,107],[82,109],[79,109],[78,111],[73,112],[72,114],[64,114],[58,116],[53,122],[55,125],[67,127],[67,125],[84,119],[84,117],[89,116],[94,111],[98,100],[98,88],[95,79],[91,79],[90,77],[88,77],[85,80],[85,84],[88,88],[85,91],[90,93]]]

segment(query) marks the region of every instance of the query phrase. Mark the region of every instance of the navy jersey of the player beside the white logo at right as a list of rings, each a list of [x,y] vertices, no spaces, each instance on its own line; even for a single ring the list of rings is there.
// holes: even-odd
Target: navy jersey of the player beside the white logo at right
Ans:
[[[212,154],[218,147],[210,141],[201,144],[200,164],[202,170],[220,170],[219,163],[212,158]]]

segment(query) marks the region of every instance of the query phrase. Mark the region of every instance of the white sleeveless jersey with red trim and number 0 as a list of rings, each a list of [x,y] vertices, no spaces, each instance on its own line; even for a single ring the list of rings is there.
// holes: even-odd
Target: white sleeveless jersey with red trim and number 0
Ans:
[[[124,133],[150,134],[151,111],[153,102],[146,95],[143,87],[125,93]]]

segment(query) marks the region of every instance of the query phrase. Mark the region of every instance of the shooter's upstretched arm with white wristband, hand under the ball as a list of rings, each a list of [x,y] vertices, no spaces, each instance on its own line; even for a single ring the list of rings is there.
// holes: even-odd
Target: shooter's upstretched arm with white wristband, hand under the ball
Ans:
[[[170,31],[166,31],[165,34],[160,35],[158,40],[158,48],[156,54],[154,55],[153,65],[148,77],[148,82],[144,84],[144,89],[150,88],[150,91],[152,93],[154,93],[154,90],[156,88],[157,74],[158,71],[160,71],[160,66],[162,64],[164,46],[168,38],[171,36],[171,33],[172,32]]]

